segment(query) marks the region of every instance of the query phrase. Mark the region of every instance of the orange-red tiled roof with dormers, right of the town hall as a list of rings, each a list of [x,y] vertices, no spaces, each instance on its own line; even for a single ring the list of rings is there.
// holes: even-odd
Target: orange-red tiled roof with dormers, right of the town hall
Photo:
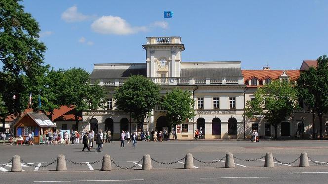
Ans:
[[[272,79],[278,79],[280,75],[284,73],[284,70],[242,70],[244,76],[244,83],[253,77],[260,80],[264,80],[268,77]],[[294,81],[299,77],[299,70],[286,70],[286,74],[290,77],[289,79]],[[247,87],[259,87],[259,86],[248,86]]]

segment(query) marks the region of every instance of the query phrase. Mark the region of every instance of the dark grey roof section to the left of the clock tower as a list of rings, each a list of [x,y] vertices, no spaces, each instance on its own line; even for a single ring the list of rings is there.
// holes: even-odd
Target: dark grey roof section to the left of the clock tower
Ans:
[[[90,78],[124,78],[131,75],[146,76],[146,69],[94,69],[90,75]]]

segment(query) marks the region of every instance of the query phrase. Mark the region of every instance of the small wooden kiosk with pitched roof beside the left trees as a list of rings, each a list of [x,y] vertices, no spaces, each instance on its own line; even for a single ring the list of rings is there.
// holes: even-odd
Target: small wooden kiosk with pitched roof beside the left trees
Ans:
[[[15,136],[25,137],[29,135],[32,131],[34,132],[34,143],[39,144],[40,135],[43,134],[45,130],[52,130],[56,127],[55,124],[42,113],[28,112],[25,114],[17,123],[15,123]]]

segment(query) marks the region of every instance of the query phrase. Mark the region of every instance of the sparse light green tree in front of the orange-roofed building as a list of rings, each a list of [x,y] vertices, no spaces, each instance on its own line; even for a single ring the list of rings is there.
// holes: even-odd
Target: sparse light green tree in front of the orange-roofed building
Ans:
[[[247,101],[245,115],[250,118],[262,116],[275,128],[277,139],[278,125],[298,107],[297,90],[291,83],[276,80],[258,88],[254,95],[254,100]]]

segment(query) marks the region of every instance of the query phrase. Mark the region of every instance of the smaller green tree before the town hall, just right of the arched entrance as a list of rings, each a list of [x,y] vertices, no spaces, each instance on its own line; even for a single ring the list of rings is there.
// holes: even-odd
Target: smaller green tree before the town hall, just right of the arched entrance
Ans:
[[[190,91],[174,88],[167,93],[161,105],[166,110],[166,118],[171,126],[182,124],[195,116],[194,103]]]

